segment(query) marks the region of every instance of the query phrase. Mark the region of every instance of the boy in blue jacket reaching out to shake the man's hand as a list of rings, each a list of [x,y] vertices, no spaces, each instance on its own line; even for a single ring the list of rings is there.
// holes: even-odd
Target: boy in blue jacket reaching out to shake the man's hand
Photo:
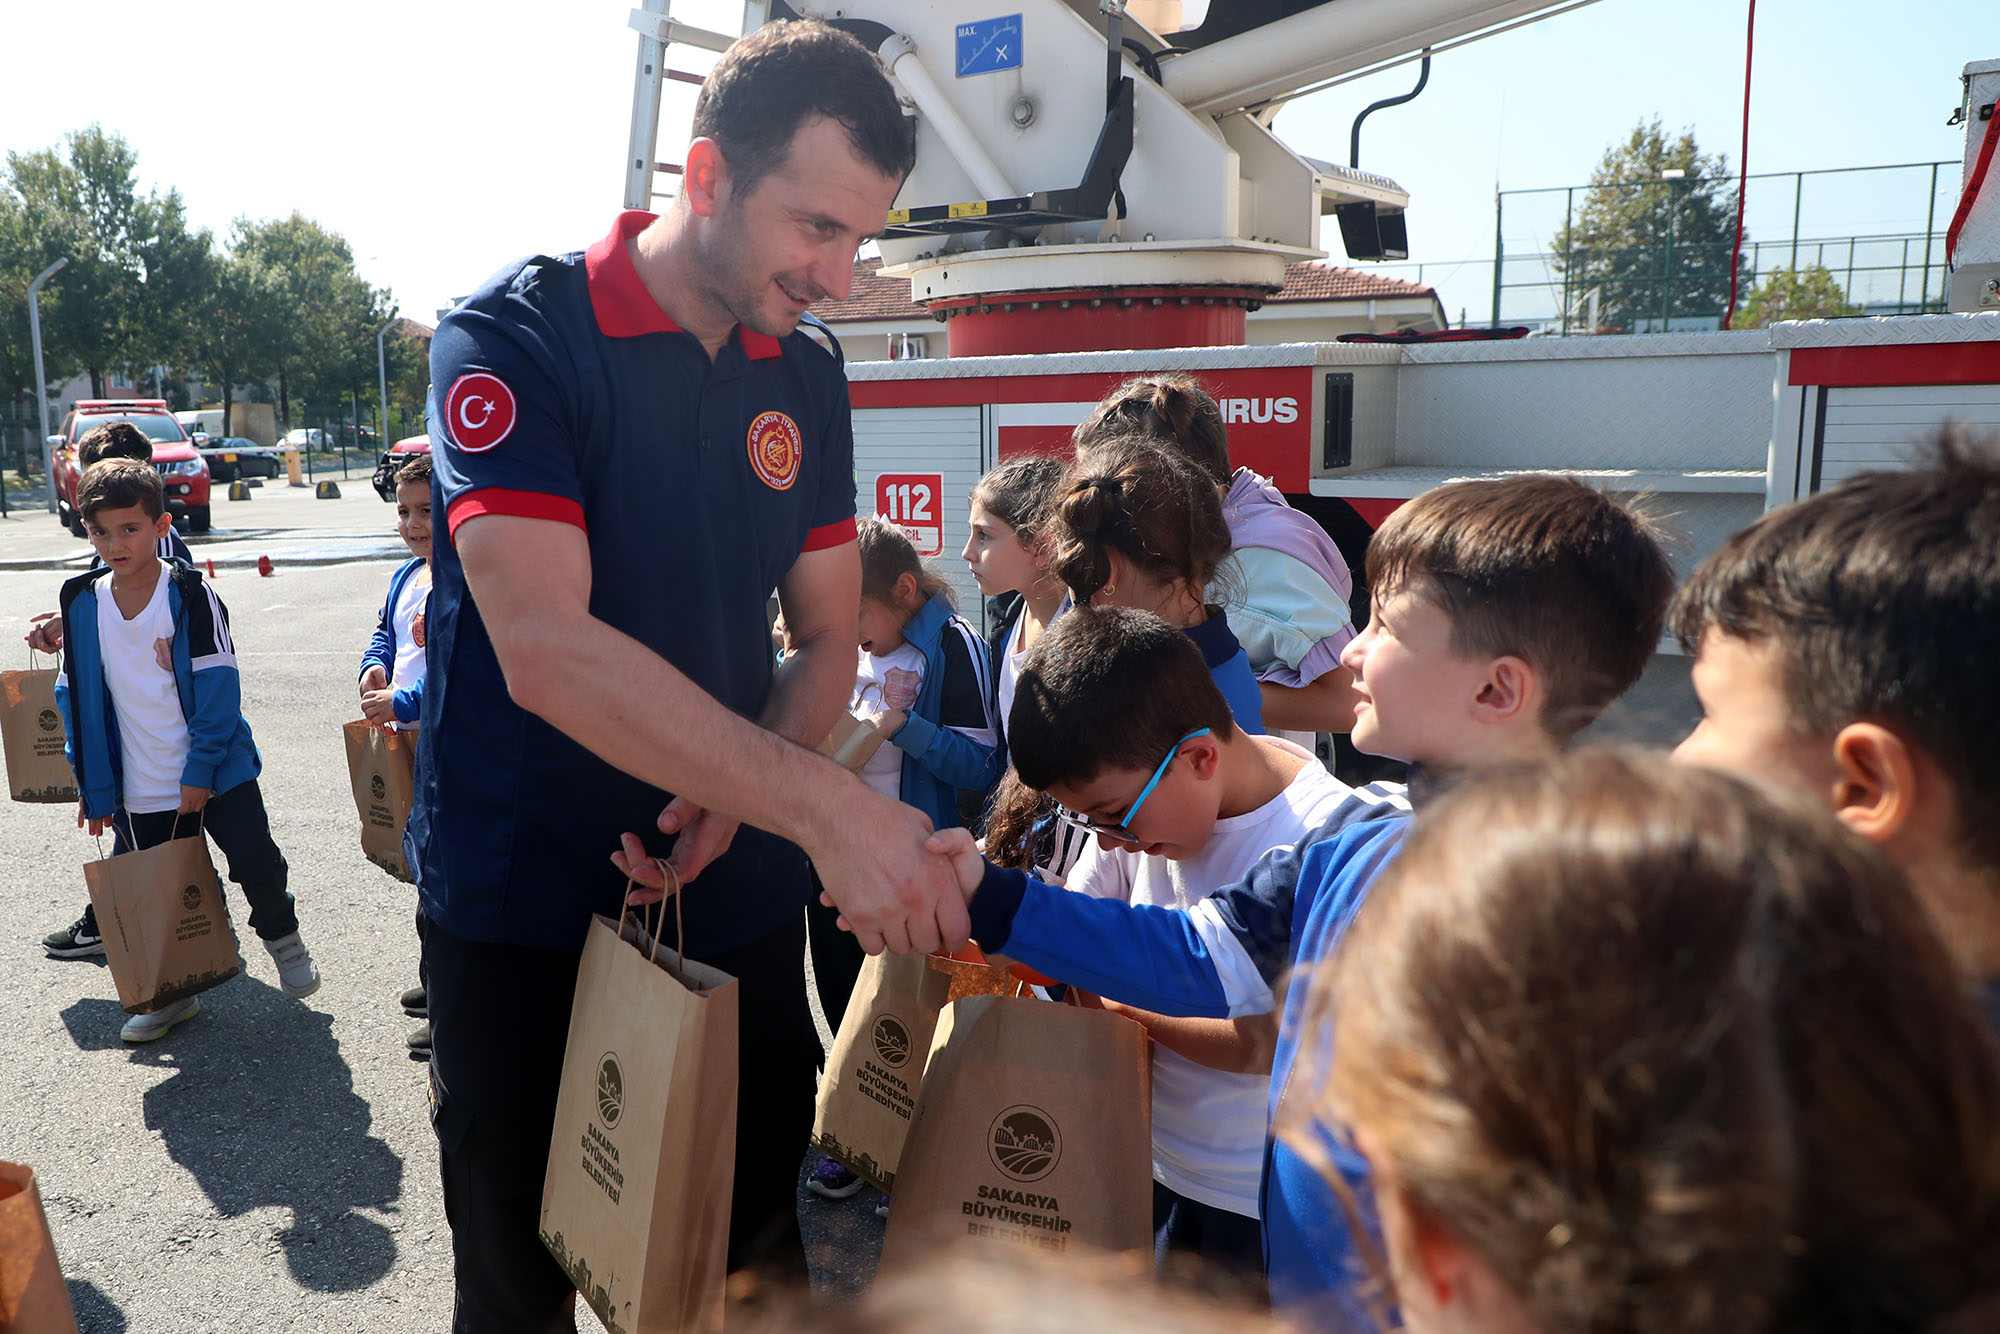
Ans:
[[[1650,524],[1608,496],[1566,478],[1508,478],[1446,486],[1390,516],[1368,548],[1368,630],[1340,656],[1360,696],[1354,744],[1448,776],[1556,754],[1638,678],[1674,576]],[[1416,778],[1410,796],[1428,782]],[[1362,788],[1186,912],[986,866],[956,832],[932,846],[952,854],[988,952],[1166,1016],[1264,1014],[1286,990],[1276,1118],[1300,1046],[1332,1040],[1304,1030],[1306,988],[1282,980],[1332,956],[1396,856],[1408,808],[1394,786]],[[1366,1180],[1332,1128],[1324,1148],[1350,1184]],[[1288,1144],[1266,1142],[1260,1214],[1272,1302],[1306,1320],[1358,1314],[1338,1196]]]

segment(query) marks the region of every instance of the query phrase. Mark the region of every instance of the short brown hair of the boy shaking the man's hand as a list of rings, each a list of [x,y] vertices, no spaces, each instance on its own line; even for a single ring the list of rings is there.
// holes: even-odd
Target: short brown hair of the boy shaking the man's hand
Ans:
[[[1410,592],[1452,622],[1452,652],[1516,656],[1542,678],[1542,730],[1582,732],[1660,644],[1674,566],[1658,528],[1576,478],[1454,482],[1368,542],[1376,598]]]

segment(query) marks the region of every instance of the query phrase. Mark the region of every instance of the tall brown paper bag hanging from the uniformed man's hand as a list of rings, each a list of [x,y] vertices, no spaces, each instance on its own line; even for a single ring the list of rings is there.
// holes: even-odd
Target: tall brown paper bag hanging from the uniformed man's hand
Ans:
[[[612,1334],[720,1328],[734,1180],[736,978],[592,920],[542,1244]]]

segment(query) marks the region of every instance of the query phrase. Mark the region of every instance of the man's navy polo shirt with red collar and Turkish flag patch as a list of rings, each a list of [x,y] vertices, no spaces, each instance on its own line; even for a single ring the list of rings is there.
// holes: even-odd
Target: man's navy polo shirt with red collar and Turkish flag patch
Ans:
[[[766,598],[802,552],[854,540],[854,430],[838,362],[806,334],[738,328],[710,362],[648,296],[626,212],[588,252],[486,280],[430,346],[430,668],[408,852],[424,912],[470,940],[582,948],[616,916],[610,854],[632,830],[664,852],[668,792],[624,774],[508,698],[458,562],[482,514],[576,524],[590,612],[754,718],[772,684]],[[650,700],[632,698],[632,708]],[[672,720],[666,720],[672,726]],[[806,856],[744,826],[684,894],[696,958],[796,918]]]

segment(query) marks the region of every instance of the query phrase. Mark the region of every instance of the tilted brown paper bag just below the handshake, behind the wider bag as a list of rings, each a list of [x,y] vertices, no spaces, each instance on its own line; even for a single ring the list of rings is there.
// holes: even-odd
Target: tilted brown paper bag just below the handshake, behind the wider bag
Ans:
[[[950,996],[952,974],[938,962],[944,960],[924,954],[870,956],[854,980],[820,1078],[814,1146],[878,1190],[896,1184],[896,1160],[910,1132],[930,1038]]]

